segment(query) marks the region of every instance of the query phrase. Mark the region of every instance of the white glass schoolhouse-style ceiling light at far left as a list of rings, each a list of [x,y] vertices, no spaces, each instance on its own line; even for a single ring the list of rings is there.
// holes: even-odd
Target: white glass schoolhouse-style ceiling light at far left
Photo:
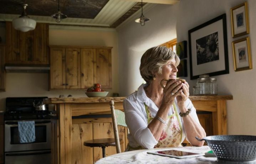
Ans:
[[[23,12],[19,18],[15,18],[14,20],[12,20],[12,26],[16,30],[20,30],[22,32],[34,30],[36,28],[36,21],[30,19],[29,16],[27,16],[26,8],[28,5],[22,4],[22,6],[23,6]]]

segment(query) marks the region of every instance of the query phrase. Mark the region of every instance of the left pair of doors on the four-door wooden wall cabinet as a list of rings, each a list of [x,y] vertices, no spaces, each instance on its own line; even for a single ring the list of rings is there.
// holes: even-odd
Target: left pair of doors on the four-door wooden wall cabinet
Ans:
[[[51,48],[50,89],[81,88],[80,49]]]

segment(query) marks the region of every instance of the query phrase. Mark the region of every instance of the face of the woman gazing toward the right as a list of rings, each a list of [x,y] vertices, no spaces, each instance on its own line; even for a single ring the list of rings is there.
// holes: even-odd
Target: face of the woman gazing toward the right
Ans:
[[[177,67],[175,66],[175,58],[171,59],[166,65],[162,67],[162,75],[158,75],[162,79],[176,79],[178,72]]]

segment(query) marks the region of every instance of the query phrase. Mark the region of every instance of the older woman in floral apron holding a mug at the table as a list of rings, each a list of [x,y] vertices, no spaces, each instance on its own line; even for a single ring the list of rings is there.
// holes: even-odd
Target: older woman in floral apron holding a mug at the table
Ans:
[[[166,47],[148,49],[140,62],[146,81],[124,99],[126,124],[130,130],[126,151],[157,147],[178,147],[186,139],[203,146],[205,131],[189,100],[189,85],[176,80],[179,57]],[[161,80],[171,79],[163,89]]]

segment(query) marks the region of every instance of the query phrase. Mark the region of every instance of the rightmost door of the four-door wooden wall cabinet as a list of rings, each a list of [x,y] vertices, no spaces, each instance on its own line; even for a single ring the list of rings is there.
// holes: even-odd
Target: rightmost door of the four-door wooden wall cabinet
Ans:
[[[96,49],[96,79],[102,88],[112,87],[111,49]]]

